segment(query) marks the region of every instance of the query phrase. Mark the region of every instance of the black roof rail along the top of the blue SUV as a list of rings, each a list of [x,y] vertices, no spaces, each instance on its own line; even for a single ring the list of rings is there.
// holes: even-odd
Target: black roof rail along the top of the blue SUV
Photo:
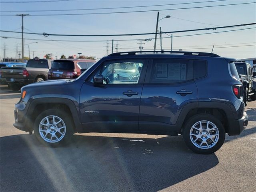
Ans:
[[[183,55],[190,55],[190,56],[205,56],[205,57],[220,57],[214,53],[206,53],[206,52],[189,52],[189,51],[130,51],[130,52],[118,52],[112,53],[108,56],[122,56],[122,55],[136,55],[136,54],[183,54]]]

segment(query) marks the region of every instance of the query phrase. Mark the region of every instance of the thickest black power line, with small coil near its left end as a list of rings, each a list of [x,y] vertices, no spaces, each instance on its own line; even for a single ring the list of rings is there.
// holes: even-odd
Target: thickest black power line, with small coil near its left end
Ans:
[[[256,23],[248,23],[248,24],[239,24],[239,25],[230,25],[230,26],[222,26],[222,27],[213,27],[213,28],[200,28],[200,29],[190,29],[190,30],[180,30],[180,31],[168,31],[168,32],[156,32],[156,33],[137,33],[137,34],[102,34],[102,35],[76,35],[76,34],[48,34],[48,33],[30,33],[24,32],[25,34],[35,34],[35,35],[44,35],[48,36],[84,36],[84,37],[97,37],[97,36],[137,36],[137,35],[153,35],[153,34],[167,34],[167,33],[182,33],[182,32],[192,32],[192,31],[202,31],[202,30],[216,30],[221,28],[232,28],[238,26],[248,26],[255,25]],[[14,32],[7,30],[0,30],[0,32],[11,32],[11,33],[22,33],[22,32]]]

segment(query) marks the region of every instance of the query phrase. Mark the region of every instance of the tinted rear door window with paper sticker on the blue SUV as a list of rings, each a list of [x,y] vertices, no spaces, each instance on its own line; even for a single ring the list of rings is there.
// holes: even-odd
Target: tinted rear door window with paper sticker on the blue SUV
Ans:
[[[193,79],[193,61],[154,59],[150,83],[176,83]]]

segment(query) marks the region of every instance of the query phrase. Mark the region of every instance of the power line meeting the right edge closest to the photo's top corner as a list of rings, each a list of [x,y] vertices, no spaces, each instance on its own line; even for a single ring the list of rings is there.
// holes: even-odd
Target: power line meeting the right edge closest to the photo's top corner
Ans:
[[[36,15],[30,15],[30,16],[67,16],[67,15],[97,15],[97,14],[138,13],[138,12],[153,12],[153,11],[167,11],[167,10],[184,10],[184,9],[196,9],[196,8],[221,7],[221,6],[244,5],[244,4],[255,4],[255,3],[256,3],[256,2],[248,2],[248,3],[236,3],[236,4],[200,6],[200,7],[172,8],[172,9],[157,9],[157,10],[142,10],[142,11],[123,11],[123,12],[70,13],[70,14],[36,14]],[[0,15],[0,16],[15,16],[15,15]]]

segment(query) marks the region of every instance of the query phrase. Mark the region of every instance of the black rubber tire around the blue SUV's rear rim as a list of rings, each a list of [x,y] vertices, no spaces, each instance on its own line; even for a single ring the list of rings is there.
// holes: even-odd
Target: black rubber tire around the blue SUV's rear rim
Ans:
[[[190,139],[190,130],[192,129],[192,126],[200,121],[212,122],[218,128],[218,132],[219,132],[218,141],[211,148],[205,148],[205,149],[199,148],[195,146]],[[199,132],[198,132],[198,135],[200,135]],[[203,136],[203,134],[201,136]],[[221,148],[221,146],[223,145],[225,140],[225,129],[222,123],[220,122],[220,120],[218,120],[218,118],[216,118],[215,116],[210,114],[196,114],[191,118],[189,118],[188,121],[186,122],[183,129],[183,138],[188,148],[190,148],[193,152],[196,152],[199,154],[212,154],[216,152],[219,148]],[[198,142],[200,142],[200,140],[202,139],[198,138]],[[206,141],[211,142],[209,138]]]

